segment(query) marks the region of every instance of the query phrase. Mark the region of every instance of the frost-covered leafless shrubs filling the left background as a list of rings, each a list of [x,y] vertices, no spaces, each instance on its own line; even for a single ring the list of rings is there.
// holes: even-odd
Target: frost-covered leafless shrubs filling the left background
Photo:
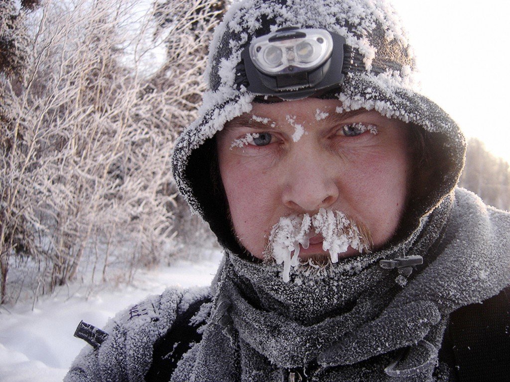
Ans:
[[[37,269],[14,272],[37,295],[175,254],[189,216],[175,215],[172,142],[195,118],[221,4],[47,1],[29,19],[22,80],[0,78],[2,302],[9,266]]]

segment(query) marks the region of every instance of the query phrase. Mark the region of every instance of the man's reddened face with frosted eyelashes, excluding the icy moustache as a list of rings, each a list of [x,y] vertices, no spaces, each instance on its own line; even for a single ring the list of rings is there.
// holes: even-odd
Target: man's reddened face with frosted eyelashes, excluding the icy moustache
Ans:
[[[370,232],[375,248],[395,233],[410,159],[407,128],[375,111],[338,112],[338,100],[254,103],[218,134],[221,179],[239,242],[263,258],[282,216],[338,210]],[[359,254],[349,247],[340,258]],[[299,257],[327,257],[322,237]]]

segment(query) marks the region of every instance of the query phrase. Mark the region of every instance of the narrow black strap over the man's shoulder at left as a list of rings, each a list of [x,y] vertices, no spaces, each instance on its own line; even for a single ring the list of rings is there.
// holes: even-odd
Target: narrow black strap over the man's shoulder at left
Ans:
[[[145,375],[145,382],[168,382],[191,345],[200,342],[202,335],[197,333],[197,326],[190,320],[197,314],[203,304],[209,303],[211,297],[195,301],[189,308],[177,313],[175,321],[168,332],[158,339],[152,350],[152,364]]]

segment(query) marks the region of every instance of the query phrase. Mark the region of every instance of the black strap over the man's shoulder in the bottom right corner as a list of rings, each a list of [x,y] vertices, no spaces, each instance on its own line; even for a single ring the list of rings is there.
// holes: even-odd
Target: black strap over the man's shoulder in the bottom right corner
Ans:
[[[510,286],[451,314],[440,358],[459,382],[510,381]]]

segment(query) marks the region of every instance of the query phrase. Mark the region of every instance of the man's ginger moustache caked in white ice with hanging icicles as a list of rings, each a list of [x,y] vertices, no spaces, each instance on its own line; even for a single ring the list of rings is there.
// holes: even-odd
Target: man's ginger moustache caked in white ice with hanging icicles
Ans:
[[[360,253],[371,247],[369,232],[340,211],[321,208],[313,216],[308,213],[283,216],[271,229],[264,257],[284,264],[282,278],[286,283],[290,280],[291,266],[315,265],[312,259],[301,262],[299,251],[301,247],[308,249],[310,239],[316,235],[322,236],[322,249],[329,252],[331,263],[338,262],[338,255],[349,246]]]

